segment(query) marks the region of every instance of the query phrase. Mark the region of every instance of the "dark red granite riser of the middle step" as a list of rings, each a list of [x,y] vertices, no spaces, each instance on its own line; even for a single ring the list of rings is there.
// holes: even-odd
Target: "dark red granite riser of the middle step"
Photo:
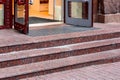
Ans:
[[[112,50],[112,49],[119,49],[119,48],[120,48],[120,43],[116,43],[116,44],[111,44],[111,45],[91,47],[91,48],[87,48],[87,49],[59,52],[57,54],[53,53],[53,54],[49,54],[49,55],[27,57],[24,59],[22,58],[22,59],[18,59],[18,60],[0,62],[0,68],[29,64],[29,63],[34,63],[34,62],[46,61],[46,60],[66,58],[66,57],[70,57],[70,56],[96,53],[96,52],[107,51],[107,50]]]

